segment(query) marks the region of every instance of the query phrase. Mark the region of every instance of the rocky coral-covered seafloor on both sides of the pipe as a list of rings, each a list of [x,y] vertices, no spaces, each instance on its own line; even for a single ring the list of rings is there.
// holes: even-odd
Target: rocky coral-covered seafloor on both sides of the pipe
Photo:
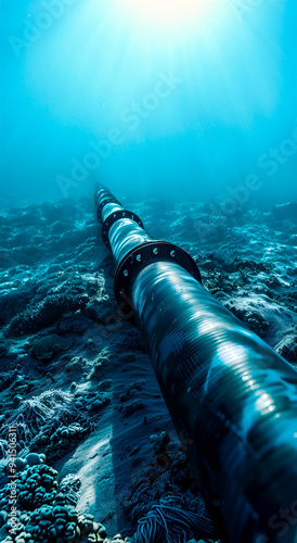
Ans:
[[[125,205],[297,364],[297,204],[211,222],[201,203]],[[92,199],[3,211],[0,232],[0,541],[217,541],[142,339],[118,313]]]

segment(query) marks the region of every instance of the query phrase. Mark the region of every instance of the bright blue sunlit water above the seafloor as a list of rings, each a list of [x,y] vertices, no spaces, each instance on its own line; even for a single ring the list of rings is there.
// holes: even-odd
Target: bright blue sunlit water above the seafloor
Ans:
[[[296,0],[147,3],[1,0],[2,203],[296,200]]]

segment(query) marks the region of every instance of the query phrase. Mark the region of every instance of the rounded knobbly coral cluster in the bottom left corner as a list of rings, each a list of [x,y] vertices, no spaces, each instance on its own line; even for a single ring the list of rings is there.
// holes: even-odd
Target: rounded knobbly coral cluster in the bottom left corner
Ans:
[[[59,485],[56,476],[47,464],[25,467],[16,479],[16,522],[9,517],[11,484],[0,491],[0,527],[2,534],[8,534],[3,542],[78,543],[106,538],[103,525],[74,507],[78,478],[68,476]]]

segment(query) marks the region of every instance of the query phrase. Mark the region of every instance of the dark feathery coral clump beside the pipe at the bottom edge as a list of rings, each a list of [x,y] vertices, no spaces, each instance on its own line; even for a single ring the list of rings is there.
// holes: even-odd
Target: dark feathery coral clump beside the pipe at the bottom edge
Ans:
[[[150,441],[153,463],[140,469],[124,505],[137,523],[137,542],[186,542],[191,535],[211,535],[214,525],[185,456],[175,451],[166,431],[151,435]]]

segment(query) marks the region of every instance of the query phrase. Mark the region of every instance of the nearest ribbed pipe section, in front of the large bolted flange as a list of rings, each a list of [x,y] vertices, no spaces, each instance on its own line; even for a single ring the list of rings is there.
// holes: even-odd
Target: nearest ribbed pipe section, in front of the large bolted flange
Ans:
[[[297,372],[176,264],[140,272],[132,301],[225,540],[296,543]]]

